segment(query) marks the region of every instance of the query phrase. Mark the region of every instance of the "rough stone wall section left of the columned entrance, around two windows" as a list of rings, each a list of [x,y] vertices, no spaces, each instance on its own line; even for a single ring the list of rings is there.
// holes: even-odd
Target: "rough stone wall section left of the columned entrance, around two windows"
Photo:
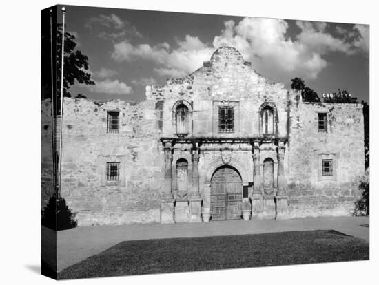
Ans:
[[[107,134],[112,110],[118,134]],[[79,225],[159,222],[164,158],[154,102],[65,98],[63,114],[61,196]],[[106,162],[121,162],[119,182],[106,181]]]

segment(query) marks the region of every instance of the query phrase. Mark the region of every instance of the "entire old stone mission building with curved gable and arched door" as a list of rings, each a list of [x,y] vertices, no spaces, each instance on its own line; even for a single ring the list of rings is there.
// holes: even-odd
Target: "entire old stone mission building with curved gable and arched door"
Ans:
[[[79,225],[349,215],[363,138],[362,105],[303,102],[220,47],[139,103],[65,98],[61,196]]]

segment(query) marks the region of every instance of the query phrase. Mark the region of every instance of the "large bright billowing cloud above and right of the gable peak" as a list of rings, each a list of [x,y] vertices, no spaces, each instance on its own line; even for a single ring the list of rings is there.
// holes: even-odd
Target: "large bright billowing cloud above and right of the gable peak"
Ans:
[[[288,23],[282,19],[244,18],[238,25],[227,21],[213,45],[233,45],[257,70],[276,78],[291,73],[314,79],[327,67],[324,56],[329,52],[356,53],[351,43],[327,32],[327,23],[296,21],[296,25],[301,31],[292,40],[286,36]]]

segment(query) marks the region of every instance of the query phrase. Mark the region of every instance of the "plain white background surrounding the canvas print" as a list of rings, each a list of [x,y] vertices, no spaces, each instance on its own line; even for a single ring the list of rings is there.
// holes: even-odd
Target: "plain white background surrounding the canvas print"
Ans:
[[[68,0],[65,4],[139,8],[203,14],[233,14],[283,19],[307,19],[370,24],[370,107],[371,126],[376,123],[378,93],[378,7],[376,1],[168,1],[168,0]],[[5,1],[1,6],[1,279],[3,284],[48,284],[39,275],[40,264],[40,43],[41,9],[54,1]],[[5,64],[4,64],[5,62]],[[371,173],[376,173],[377,133],[371,127]],[[374,177],[372,177],[374,178]],[[376,201],[376,179],[371,181],[371,205]],[[81,279],[80,284],[371,284],[377,279],[377,211],[371,207],[371,260],[204,271],[133,277]]]

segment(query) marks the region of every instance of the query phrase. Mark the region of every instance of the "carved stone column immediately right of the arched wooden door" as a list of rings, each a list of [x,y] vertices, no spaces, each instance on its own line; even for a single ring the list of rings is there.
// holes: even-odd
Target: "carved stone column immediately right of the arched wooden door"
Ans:
[[[259,218],[259,215],[263,210],[263,196],[260,189],[260,148],[258,142],[254,142],[253,151],[254,183],[252,194],[252,219]]]

